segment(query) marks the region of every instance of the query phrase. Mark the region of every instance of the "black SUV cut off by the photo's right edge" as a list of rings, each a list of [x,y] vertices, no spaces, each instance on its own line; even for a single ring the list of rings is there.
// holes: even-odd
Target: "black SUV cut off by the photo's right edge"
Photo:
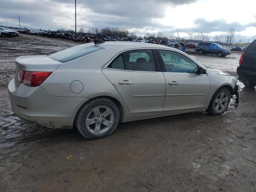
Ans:
[[[256,40],[242,53],[236,72],[244,86],[256,86]]]

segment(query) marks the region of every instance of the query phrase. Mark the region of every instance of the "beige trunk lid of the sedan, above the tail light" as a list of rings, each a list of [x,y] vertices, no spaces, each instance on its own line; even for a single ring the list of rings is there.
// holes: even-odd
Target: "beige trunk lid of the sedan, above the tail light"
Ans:
[[[14,75],[15,85],[20,86],[18,81],[19,70],[53,72],[60,66],[60,62],[48,58],[46,55],[20,56],[15,59],[16,70]]]

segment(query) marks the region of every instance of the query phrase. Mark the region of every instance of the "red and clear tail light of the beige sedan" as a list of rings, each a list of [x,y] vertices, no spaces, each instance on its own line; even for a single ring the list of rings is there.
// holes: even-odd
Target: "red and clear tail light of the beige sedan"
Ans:
[[[21,81],[30,87],[39,86],[52,72],[35,72],[35,71],[19,71],[18,81],[20,81],[20,76],[22,76]]]

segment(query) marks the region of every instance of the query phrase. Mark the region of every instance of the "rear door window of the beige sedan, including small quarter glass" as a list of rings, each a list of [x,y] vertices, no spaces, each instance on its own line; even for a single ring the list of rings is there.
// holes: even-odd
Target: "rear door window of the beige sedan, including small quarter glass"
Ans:
[[[108,68],[154,72],[156,64],[152,50],[132,50],[120,54]]]

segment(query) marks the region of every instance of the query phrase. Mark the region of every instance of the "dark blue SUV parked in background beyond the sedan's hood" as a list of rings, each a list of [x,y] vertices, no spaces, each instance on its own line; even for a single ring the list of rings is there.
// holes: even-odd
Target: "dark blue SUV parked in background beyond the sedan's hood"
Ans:
[[[225,57],[231,52],[217,43],[199,42],[195,48],[199,54],[216,54],[218,57]]]

